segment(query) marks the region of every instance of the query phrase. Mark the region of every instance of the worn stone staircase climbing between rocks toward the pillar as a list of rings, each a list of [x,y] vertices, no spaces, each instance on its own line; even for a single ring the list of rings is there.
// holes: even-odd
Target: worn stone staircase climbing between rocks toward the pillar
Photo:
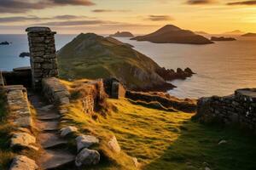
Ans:
[[[62,139],[59,132],[60,115],[54,105],[49,105],[39,95],[30,93],[28,99],[34,106],[37,116],[35,127],[38,128],[38,143],[43,150],[40,152],[38,167],[42,169],[67,169],[73,165],[75,156],[65,146],[67,140]]]

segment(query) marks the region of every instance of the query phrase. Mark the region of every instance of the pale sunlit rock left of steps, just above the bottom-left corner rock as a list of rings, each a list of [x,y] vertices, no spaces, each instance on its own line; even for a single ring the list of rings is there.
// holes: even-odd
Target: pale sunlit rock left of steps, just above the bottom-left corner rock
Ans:
[[[38,150],[37,147],[32,146],[31,144],[36,143],[36,138],[28,133],[13,133],[13,137],[11,138],[11,147],[22,146],[32,148],[33,150]]]

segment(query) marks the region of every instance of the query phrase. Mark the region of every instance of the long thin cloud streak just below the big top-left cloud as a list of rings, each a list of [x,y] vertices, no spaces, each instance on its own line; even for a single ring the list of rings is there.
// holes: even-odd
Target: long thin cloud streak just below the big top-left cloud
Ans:
[[[79,20],[83,18],[89,18],[84,15],[56,15],[53,17],[38,17],[38,16],[12,16],[12,17],[0,17],[0,23],[15,23],[24,21],[40,21],[40,20]]]

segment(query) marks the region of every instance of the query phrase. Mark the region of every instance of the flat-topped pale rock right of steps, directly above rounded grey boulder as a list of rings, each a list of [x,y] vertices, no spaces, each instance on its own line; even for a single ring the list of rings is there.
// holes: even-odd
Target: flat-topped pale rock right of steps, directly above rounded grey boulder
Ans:
[[[76,138],[78,151],[83,148],[89,148],[92,144],[98,144],[99,139],[95,136],[81,135]]]

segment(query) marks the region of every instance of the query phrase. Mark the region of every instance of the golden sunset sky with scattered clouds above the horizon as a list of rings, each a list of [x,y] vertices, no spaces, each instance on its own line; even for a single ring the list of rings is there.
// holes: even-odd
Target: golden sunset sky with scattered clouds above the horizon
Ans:
[[[24,34],[29,26],[59,34],[146,34],[167,24],[256,32],[256,0],[0,0],[0,34]]]

